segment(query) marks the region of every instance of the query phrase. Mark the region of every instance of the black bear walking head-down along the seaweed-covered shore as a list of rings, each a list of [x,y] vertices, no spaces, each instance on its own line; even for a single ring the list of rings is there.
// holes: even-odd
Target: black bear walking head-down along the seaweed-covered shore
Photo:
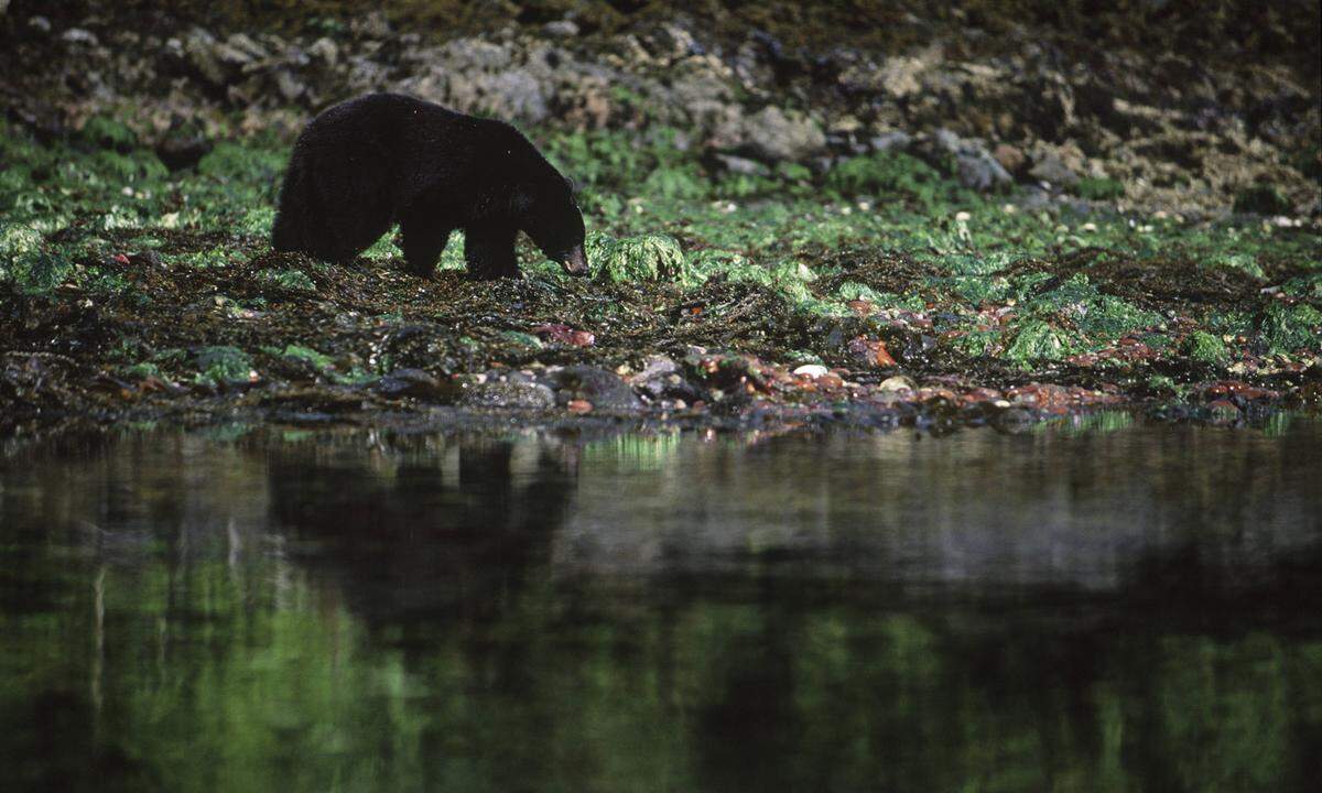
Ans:
[[[271,246],[346,262],[397,222],[418,275],[431,275],[455,229],[476,278],[518,275],[520,230],[567,272],[587,272],[572,185],[514,127],[401,94],[312,119],[293,145]]]

